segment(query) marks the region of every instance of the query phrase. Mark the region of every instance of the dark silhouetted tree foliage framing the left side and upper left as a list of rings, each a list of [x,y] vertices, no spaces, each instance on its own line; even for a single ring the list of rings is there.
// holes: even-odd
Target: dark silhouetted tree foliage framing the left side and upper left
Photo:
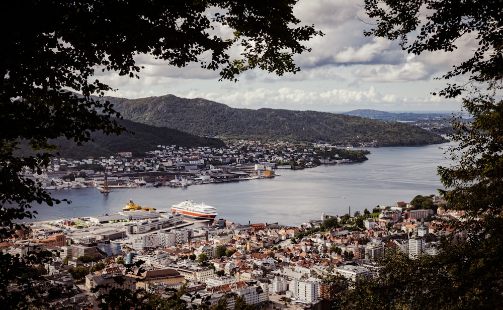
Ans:
[[[113,89],[97,78],[100,72],[139,77],[137,56],[148,55],[178,67],[198,63],[222,79],[235,80],[252,68],[295,73],[293,56],[309,50],[304,41],[321,35],[300,25],[295,3],[2,2],[0,241],[21,228],[16,221],[36,214],[32,204],[64,201],[22,176],[24,169],[42,172],[58,150],[56,139],[81,146],[94,133],[127,131],[103,97]],[[33,153],[17,155],[21,143]],[[0,296],[10,306],[28,308],[29,296],[8,287],[30,262],[3,254],[0,260]]]

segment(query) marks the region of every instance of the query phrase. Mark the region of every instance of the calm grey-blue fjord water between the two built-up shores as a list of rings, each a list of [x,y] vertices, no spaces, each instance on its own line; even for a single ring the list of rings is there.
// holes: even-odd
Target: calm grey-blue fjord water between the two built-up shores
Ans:
[[[438,194],[442,188],[438,166],[448,166],[444,151],[449,143],[417,147],[369,148],[368,161],[322,165],[304,170],[278,169],[278,176],[239,182],[140,188],[111,188],[102,194],[95,188],[58,190],[55,198],[71,204],[35,206],[36,221],[61,217],[113,214],[133,199],[141,206],[169,211],[185,199],[217,208],[218,219],[234,223],[276,223],[298,226],[321,214],[363,213],[376,205],[408,202],[416,195]],[[35,221],[35,220],[31,220]]]

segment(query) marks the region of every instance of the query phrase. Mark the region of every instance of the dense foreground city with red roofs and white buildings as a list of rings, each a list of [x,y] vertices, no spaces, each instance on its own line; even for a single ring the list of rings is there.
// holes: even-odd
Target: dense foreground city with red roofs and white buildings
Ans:
[[[4,242],[2,251],[20,257],[52,253],[27,271],[43,275],[34,286],[51,308],[97,308],[112,288],[163,298],[171,296],[167,290],[183,290],[188,306],[213,305],[225,297],[233,309],[242,297],[257,307],[326,308],[340,285],[333,276],[351,287],[382,268],[379,258],[436,255],[437,236],[451,233],[441,223],[463,217],[434,195],[412,203],[352,216],[322,214],[298,227],[222,218],[193,227],[201,222],[179,212],[134,208],[130,201],[118,214],[31,223]],[[456,239],[463,241],[466,234]],[[54,290],[58,294],[48,294]]]

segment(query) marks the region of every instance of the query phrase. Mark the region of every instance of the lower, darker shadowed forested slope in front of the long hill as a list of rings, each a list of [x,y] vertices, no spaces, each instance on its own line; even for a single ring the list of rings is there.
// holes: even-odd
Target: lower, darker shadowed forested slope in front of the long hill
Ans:
[[[102,133],[93,133],[92,137],[96,141],[85,143],[83,146],[77,146],[73,141],[59,138],[55,143],[60,146],[60,156],[80,159],[89,156],[112,156],[118,152],[132,152],[134,155],[141,156],[145,152],[158,150],[157,145],[159,144],[183,147],[225,147],[225,143],[220,139],[199,137],[176,129],[155,127],[127,120],[121,120],[120,124],[134,134],[123,133],[120,136],[107,136]],[[19,152],[25,156],[31,155],[26,144],[22,145]]]

